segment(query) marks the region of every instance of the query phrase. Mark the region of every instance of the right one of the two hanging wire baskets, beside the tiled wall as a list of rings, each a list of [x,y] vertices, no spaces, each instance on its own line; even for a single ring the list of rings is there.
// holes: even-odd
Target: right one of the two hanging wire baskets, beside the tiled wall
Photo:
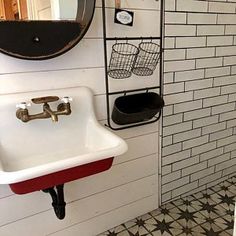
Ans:
[[[134,63],[132,72],[138,76],[153,74],[160,58],[160,46],[153,42],[141,42],[139,54]]]

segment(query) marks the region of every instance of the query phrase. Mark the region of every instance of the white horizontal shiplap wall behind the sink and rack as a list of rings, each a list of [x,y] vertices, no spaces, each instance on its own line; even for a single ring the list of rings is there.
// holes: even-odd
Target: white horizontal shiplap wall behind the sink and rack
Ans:
[[[135,10],[135,25],[114,25],[114,1],[108,1],[110,36],[159,34],[159,1],[124,0]],[[85,38],[71,51],[46,61],[24,61],[0,54],[1,95],[88,86],[95,94],[97,117],[105,123],[105,85],[101,2]],[[150,23],[151,22],[151,23]],[[155,22],[155,24],[152,24]],[[148,27],[147,27],[148,26]],[[123,82],[123,84],[122,84]],[[154,77],[117,82],[113,90],[152,85]],[[50,91],[49,91],[50,95]],[[126,139],[129,151],[117,157],[104,173],[66,184],[66,218],[56,219],[50,197],[42,192],[14,195],[0,186],[1,236],[93,236],[158,207],[158,124],[116,132]]]

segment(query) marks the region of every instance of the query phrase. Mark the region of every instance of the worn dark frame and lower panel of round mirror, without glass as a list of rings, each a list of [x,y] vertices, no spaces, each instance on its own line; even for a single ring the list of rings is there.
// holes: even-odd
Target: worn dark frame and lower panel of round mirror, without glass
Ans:
[[[26,60],[45,60],[73,48],[86,34],[96,0],[78,0],[75,21],[0,21],[0,52]]]

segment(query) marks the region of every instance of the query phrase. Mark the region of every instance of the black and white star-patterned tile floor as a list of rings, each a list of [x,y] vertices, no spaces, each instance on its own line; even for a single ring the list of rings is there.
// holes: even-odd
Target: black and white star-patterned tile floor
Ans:
[[[98,236],[232,236],[236,177],[161,206]]]

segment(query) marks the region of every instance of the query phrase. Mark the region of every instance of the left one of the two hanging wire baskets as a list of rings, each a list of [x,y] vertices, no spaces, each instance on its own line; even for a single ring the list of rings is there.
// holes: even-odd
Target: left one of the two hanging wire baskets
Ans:
[[[114,79],[125,79],[132,75],[132,68],[139,49],[130,43],[116,43],[112,46],[108,75]]]

